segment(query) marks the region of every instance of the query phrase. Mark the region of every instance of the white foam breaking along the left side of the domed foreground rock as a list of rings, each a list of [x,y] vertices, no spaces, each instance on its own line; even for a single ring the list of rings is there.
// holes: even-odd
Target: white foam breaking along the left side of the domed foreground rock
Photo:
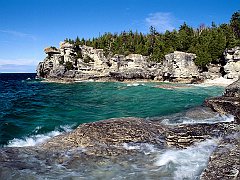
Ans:
[[[51,131],[46,134],[37,134],[37,135],[31,135],[29,137],[24,137],[21,139],[14,138],[13,140],[9,141],[8,145],[6,147],[26,147],[26,146],[36,146],[38,144],[41,144],[48,139],[60,135],[64,132],[70,132],[72,131],[73,126],[65,125],[65,126],[60,126],[60,129],[63,131],[60,131],[59,129]],[[34,132],[36,133],[41,127],[36,127]]]

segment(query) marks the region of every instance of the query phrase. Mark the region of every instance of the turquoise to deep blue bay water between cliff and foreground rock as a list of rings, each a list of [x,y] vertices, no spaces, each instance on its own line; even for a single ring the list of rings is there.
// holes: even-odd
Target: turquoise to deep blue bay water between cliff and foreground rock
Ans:
[[[81,123],[114,117],[159,117],[221,95],[222,87],[187,86],[174,90],[161,83],[44,83],[35,74],[0,74],[0,145]],[[28,79],[30,78],[30,79]]]

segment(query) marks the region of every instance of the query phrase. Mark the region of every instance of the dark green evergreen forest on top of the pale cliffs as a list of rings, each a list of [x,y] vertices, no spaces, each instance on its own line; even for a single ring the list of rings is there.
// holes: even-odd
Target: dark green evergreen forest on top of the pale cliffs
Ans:
[[[98,38],[75,40],[65,39],[79,47],[92,46],[103,49],[105,56],[113,54],[128,55],[131,53],[149,56],[150,60],[161,62],[164,56],[173,51],[195,53],[197,66],[204,68],[209,63],[220,63],[226,48],[240,46],[240,11],[233,13],[230,22],[211,27],[204,24],[194,29],[183,23],[178,30],[159,33],[150,27],[149,33],[123,31],[105,33]]]

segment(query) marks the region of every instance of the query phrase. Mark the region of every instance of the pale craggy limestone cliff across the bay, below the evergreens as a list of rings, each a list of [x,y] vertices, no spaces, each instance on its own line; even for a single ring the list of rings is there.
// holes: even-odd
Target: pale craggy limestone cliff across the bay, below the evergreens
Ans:
[[[106,57],[102,49],[88,46],[74,47],[67,42],[60,48],[48,47],[47,57],[37,67],[37,76],[46,79],[74,80],[192,80],[199,76],[194,54],[174,52],[165,56],[163,64],[149,61],[140,54]]]

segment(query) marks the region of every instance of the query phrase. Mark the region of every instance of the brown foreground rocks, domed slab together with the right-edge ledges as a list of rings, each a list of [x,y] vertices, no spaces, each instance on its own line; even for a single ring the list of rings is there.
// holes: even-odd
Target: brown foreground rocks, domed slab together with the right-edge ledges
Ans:
[[[46,149],[84,147],[89,155],[117,156],[131,151],[123,143],[151,143],[160,147],[186,148],[206,139],[220,138],[200,179],[240,178],[240,79],[229,85],[222,97],[205,105],[220,114],[233,114],[234,122],[215,124],[164,125],[137,118],[111,119],[80,125],[68,135],[58,136],[41,146]],[[230,98],[230,100],[229,100]],[[231,106],[229,105],[231,104]],[[190,113],[191,114],[191,113]],[[198,116],[206,116],[198,112]]]

